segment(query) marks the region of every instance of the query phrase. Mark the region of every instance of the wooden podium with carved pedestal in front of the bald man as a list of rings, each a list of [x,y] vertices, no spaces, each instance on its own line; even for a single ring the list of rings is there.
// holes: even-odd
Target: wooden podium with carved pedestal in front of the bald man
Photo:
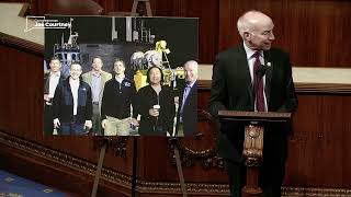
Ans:
[[[242,154],[246,159],[247,183],[241,190],[242,197],[261,197],[258,184],[259,166],[263,159],[263,134],[267,123],[290,121],[291,113],[219,111],[219,120],[240,121],[245,125]]]

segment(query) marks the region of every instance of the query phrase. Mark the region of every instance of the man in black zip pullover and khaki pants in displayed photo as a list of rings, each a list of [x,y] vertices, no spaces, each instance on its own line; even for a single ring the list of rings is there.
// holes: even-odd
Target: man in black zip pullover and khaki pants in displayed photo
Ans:
[[[137,120],[131,116],[136,95],[135,83],[125,76],[125,63],[116,59],[113,65],[114,78],[105,83],[102,96],[101,116],[105,136],[128,136],[131,124]]]

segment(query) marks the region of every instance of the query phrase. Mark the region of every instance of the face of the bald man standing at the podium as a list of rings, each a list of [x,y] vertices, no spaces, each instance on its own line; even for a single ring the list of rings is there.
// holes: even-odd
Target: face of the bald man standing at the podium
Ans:
[[[275,39],[273,27],[271,20],[258,22],[254,28],[246,34],[248,46],[254,50],[269,50]]]

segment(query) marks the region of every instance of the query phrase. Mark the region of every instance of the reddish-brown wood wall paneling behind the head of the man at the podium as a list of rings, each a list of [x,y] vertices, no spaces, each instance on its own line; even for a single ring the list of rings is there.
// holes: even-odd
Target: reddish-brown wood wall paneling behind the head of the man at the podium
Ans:
[[[351,67],[351,1],[219,0],[219,50],[241,42],[236,22],[252,9],[272,18],[273,45],[288,51],[293,65]]]

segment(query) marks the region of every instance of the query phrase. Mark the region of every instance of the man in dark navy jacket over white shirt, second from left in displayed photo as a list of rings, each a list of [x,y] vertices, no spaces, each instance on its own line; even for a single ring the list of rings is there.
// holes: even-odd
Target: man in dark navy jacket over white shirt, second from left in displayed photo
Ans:
[[[92,127],[91,89],[81,72],[81,66],[72,63],[70,76],[56,88],[53,107],[58,135],[87,135]]]

